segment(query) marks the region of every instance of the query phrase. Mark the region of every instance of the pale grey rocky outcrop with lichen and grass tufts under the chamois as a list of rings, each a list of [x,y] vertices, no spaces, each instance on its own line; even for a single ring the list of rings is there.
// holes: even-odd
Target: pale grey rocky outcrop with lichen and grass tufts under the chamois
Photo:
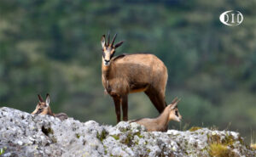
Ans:
[[[255,156],[238,132],[145,132],[136,123],[102,126],[0,109],[2,156]]]

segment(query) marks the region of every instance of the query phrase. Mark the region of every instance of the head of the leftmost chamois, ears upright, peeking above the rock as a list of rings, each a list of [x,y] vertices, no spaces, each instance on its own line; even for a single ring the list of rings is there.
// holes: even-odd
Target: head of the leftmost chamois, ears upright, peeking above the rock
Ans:
[[[46,100],[38,94],[39,102],[37,108],[32,112],[32,115],[52,115],[49,108],[49,94],[46,94]]]

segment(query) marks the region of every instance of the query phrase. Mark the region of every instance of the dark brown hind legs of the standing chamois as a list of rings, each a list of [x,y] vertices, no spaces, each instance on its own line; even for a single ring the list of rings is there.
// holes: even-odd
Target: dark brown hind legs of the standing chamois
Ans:
[[[161,113],[166,108],[165,97],[162,94],[158,93],[154,88],[148,88],[145,93],[148,95],[148,98],[151,100],[154,107]]]

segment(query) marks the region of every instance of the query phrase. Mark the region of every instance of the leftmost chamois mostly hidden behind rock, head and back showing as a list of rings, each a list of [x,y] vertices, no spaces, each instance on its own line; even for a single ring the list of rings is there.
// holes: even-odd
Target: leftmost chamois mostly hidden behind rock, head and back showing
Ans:
[[[46,95],[46,100],[44,102],[44,99],[41,97],[41,95],[38,94],[39,102],[36,107],[36,109],[32,112],[32,115],[52,115],[60,120],[66,120],[67,114],[60,113],[60,114],[54,114],[52,113],[50,107],[49,107],[49,94]]]

